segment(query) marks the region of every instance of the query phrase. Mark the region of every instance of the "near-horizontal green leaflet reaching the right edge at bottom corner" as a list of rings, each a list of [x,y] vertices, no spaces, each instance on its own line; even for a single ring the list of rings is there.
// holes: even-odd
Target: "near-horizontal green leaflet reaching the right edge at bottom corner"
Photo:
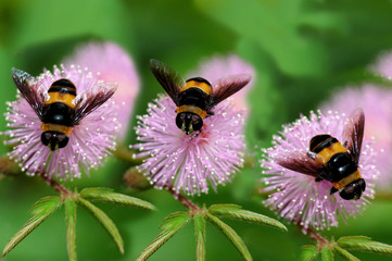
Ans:
[[[374,241],[366,236],[347,236],[341,237],[337,241],[338,246],[349,250],[361,250],[366,252],[378,252],[392,254],[392,246]]]

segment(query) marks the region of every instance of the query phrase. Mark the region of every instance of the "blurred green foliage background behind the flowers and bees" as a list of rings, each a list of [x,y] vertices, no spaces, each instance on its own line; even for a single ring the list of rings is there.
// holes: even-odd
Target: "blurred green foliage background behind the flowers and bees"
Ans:
[[[141,79],[135,114],[162,92],[149,71],[149,59],[164,61],[182,74],[213,54],[237,53],[256,70],[250,95],[252,112],[246,125],[250,150],[257,154],[270,145],[281,124],[293,121],[339,91],[344,85],[377,80],[367,73],[383,50],[392,49],[392,2],[367,0],[2,0],[0,1],[0,111],[14,100],[10,70],[37,75],[52,67],[75,46],[88,40],[112,40],[132,57]],[[132,125],[136,120],[134,117]],[[5,129],[0,117],[0,130]],[[130,129],[131,130],[131,129]],[[128,142],[134,141],[132,132]],[[256,145],[255,147],[253,147]],[[5,152],[4,147],[0,148]],[[246,167],[218,194],[194,201],[238,203],[276,217],[262,206],[254,184],[260,167]],[[122,177],[128,164],[110,159],[91,177],[69,187],[106,186],[127,192]],[[41,179],[8,177],[0,182],[0,247],[29,219],[38,199],[54,195]],[[159,234],[159,224],[182,206],[165,191],[132,192],[159,211],[99,204],[118,225],[125,240],[121,256],[109,234],[84,209],[78,209],[79,260],[135,260]],[[329,237],[365,235],[392,245],[392,201],[376,200],[363,216],[349,219],[325,234]],[[23,240],[4,260],[67,260],[63,211],[58,211]],[[312,240],[288,225],[282,233],[254,224],[227,221],[248,245],[254,260],[299,260],[301,246]],[[207,225],[207,260],[241,260],[230,243]],[[353,252],[363,260],[390,260]],[[186,226],[150,260],[194,260],[192,225]]]

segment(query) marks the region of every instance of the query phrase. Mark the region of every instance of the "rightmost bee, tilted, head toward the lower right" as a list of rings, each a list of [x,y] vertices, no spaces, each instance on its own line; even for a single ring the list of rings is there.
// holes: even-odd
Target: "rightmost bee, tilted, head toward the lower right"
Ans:
[[[343,129],[343,145],[328,134],[311,139],[309,151],[289,152],[277,163],[289,170],[314,176],[332,184],[330,195],[339,191],[345,200],[357,200],[365,191],[366,183],[361,177],[358,161],[364,136],[365,114],[358,108],[351,113]]]

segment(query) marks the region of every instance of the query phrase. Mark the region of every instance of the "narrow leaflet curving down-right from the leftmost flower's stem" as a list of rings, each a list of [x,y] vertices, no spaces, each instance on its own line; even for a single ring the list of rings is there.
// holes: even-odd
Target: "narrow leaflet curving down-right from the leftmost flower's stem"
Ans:
[[[119,252],[124,253],[124,241],[114,222],[90,201],[79,197],[78,203],[90,211],[90,213],[103,225],[117,245]]]

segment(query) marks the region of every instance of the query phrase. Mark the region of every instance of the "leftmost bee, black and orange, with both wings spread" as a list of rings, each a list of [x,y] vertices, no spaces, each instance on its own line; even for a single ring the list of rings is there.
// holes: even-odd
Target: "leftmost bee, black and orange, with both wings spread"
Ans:
[[[41,121],[41,142],[52,151],[64,148],[73,128],[80,120],[110,99],[116,86],[86,89],[76,94],[75,85],[67,78],[52,83],[46,90],[28,73],[12,69],[12,78],[29,105]]]

